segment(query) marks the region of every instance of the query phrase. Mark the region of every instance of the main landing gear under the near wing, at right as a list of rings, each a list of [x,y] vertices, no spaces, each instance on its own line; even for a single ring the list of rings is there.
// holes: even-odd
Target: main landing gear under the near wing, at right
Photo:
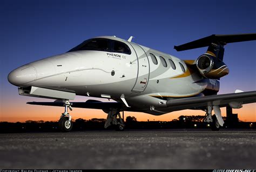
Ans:
[[[212,116],[212,110],[214,110],[215,114]],[[220,107],[219,106],[208,106],[208,110],[206,111],[206,116],[204,119],[205,122],[210,123],[212,131],[219,131],[220,126],[223,126],[224,121],[221,117]]]

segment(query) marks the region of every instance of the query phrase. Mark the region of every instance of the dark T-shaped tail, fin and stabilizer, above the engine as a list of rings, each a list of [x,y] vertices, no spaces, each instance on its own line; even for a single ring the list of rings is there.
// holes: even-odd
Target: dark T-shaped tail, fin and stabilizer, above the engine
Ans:
[[[247,34],[213,34],[205,38],[201,38],[183,45],[174,46],[174,49],[184,51],[187,49],[207,47],[208,54],[217,57],[223,61],[224,45],[232,42],[252,41],[256,40],[256,33]]]

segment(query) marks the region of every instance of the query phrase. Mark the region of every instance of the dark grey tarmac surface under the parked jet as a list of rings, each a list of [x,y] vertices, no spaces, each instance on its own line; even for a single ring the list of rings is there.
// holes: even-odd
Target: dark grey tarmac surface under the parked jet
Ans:
[[[0,169],[256,169],[256,130],[0,134]]]

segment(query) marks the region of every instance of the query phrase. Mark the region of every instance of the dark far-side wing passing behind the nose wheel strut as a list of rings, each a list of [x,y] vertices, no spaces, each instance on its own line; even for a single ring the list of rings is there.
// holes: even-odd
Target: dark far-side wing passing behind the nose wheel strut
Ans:
[[[95,100],[87,100],[86,102],[70,102],[72,107],[89,108],[89,109],[108,109],[122,107],[123,104],[119,102],[100,102]],[[63,102],[27,102],[32,105],[44,105],[44,106],[64,106]]]

